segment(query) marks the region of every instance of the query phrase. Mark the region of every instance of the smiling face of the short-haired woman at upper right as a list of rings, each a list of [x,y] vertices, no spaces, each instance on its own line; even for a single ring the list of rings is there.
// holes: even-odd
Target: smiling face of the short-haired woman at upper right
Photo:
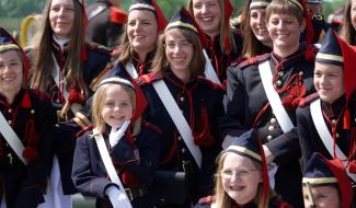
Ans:
[[[267,30],[274,48],[286,50],[298,47],[303,25],[294,15],[272,13]]]

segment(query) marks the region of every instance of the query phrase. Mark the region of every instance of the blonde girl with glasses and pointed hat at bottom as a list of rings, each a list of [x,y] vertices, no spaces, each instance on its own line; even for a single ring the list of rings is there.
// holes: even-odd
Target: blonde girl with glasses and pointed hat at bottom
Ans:
[[[197,208],[290,207],[269,188],[266,159],[256,136],[251,129],[220,153],[215,196],[200,199]]]

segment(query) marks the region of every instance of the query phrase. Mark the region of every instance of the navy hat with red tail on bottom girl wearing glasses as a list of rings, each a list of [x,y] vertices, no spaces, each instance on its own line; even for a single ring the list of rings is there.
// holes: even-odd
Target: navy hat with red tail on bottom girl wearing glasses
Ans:
[[[251,129],[242,134],[225,150],[225,152],[233,152],[262,163],[263,201],[264,207],[266,207],[269,194],[269,177],[266,158],[257,131]]]

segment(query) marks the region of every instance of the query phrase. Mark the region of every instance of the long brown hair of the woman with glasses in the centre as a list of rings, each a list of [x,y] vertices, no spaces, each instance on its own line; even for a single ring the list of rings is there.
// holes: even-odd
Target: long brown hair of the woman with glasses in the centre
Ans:
[[[162,34],[158,42],[158,49],[157,54],[154,55],[153,61],[152,61],[152,72],[160,73],[160,74],[168,74],[170,69],[170,62],[168,61],[166,55],[165,55],[165,35],[171,32],[181,32],[184,36],[184,38],[193,44],[193,58],[192,62],[188,66],[188,69],[191,71],[192,77],[203,76],[205,70],[205,58],[203,55],[203,48],[199,36],[194,33],[191,30],[183,30],[183,28],[171,28],[169,31],[165,31],[164,34]]]

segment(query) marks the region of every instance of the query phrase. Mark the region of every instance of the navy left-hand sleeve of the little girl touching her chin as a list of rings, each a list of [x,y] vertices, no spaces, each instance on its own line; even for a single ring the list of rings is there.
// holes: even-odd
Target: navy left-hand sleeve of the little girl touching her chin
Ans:
[[[104,198],[105,188],[108,185],[114,185],[104,176],[94,174],[91,167],[93,160],[89,148],[89,135],[85,134],[78,138],[72,169],[72,180],[78,190],[84,195],[97,196]],[[97,160],[101,160],[100,158]]]

